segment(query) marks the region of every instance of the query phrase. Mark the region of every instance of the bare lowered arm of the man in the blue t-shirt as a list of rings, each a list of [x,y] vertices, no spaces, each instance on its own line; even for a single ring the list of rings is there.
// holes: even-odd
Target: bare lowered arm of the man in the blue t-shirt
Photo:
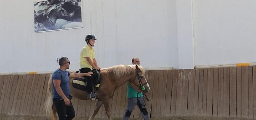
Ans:
[[[57,91],[57,93],[61,96],[61,98],[64,99],[64,102],[67,106],[70,106],[70,101],[69,99],[66,97],[66,95],[63,93],[62,89],[61,89],[61,80],[60,79],[54,79],[53,80],[53,85]]]

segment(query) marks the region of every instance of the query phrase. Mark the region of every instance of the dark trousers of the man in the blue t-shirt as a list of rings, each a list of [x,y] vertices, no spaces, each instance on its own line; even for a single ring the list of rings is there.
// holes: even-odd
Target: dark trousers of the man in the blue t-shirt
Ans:
[[[70,106],[67,106],[61,98],[53,98],[52,101],[57,109],[59,120],[72,120],[75,117],[76,113],[71,101]]]

